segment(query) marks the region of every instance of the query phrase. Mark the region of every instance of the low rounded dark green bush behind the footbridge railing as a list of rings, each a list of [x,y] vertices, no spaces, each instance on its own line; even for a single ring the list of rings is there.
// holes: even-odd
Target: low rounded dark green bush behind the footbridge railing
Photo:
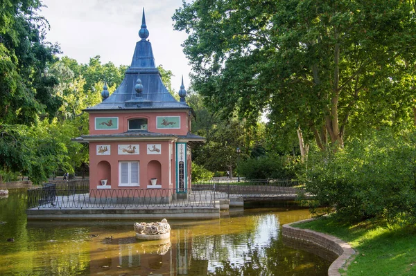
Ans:
[[[246,179],[293,179],[295,170],[290,165],[291,158],[277,156],[271,158],[262,156],[259,158],[248,158],[239,163],[237,168],[240,176]]]

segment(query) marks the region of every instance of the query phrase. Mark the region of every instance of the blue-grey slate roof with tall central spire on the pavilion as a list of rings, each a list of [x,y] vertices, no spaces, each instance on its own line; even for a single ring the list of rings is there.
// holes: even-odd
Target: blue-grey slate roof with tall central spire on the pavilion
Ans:
[[[146,32],[147,33],[146,33]],[[146,40],[148,30],[143,12],[141,40],[136,43],[132,64],[127,71],[119,88],[94,107],[88,107],[86,111],[100,111],[110,109],[190,109],[186,102],[177,102],[168,92],[162,82],[162,77],[155,66],[152,44]],[[137,78],[143,85],[141,95],[137,95],[135,85]]]

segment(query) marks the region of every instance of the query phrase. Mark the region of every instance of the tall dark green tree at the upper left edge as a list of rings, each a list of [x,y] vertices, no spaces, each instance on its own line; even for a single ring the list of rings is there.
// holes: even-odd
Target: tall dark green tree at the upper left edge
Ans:
[[[49,25],[36,14],[37,0],[2,1],[0,8],[0,122],[30,124],[37,114],[53,118],[60,98],[45,69],[59,52],[44,41]]]

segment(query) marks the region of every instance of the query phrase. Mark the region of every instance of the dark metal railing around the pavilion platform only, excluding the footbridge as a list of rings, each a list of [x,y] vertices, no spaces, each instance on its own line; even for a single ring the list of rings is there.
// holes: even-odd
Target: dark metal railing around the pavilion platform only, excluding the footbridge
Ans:
[[[176,189],[60,190],[53,200],[43,187],[28,190],[28,208],[200,208],[216,207],[215,191]],[[218,194],[218,193],[217,193]]]

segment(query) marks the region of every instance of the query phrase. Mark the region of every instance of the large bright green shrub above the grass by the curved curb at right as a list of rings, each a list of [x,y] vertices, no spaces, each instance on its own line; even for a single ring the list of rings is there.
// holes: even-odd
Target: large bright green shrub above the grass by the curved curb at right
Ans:
[[[302,179],[315,195],[312,207],[331,206],[347,221],[416,223],[415,137],[372,131],[343,150],[311,154]]]

